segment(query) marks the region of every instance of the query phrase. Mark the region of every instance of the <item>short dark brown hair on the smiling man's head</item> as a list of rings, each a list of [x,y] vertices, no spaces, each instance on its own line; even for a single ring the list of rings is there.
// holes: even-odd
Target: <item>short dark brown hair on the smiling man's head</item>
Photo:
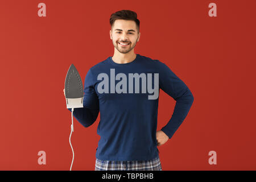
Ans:
[[[137,13],[131,10],[121,10],[113,13],[110,16],[110,20],[109,20],[111,28],[113,27],[113,24],[117,19],[134,20],[134,22],[137,25],[137,30],[139,34],[139,20],[137,19]]]

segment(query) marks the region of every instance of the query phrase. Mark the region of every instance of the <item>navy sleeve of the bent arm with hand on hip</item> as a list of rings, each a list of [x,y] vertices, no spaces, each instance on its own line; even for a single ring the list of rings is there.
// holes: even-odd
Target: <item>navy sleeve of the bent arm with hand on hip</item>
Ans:
[[[187,117],[194,97],[180,78],[178,78],[166,64],[159,61],[159,88],[176,101],[170,121],[161,130],[169,137],[174,135],[181,123]]]

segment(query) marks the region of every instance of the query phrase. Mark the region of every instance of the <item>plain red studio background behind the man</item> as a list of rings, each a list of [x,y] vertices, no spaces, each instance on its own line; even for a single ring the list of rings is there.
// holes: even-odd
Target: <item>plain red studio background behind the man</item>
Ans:
[[[38,4],[46,3],[46,17]],[[217,17],[208,15],[216,3]],[[113,56],[109,18],[133,10],[141,21],[135,53],[158,59],[185,82],[195,101],[174,136],[159,147],[163,170],[255,170],[256,1],[1,1],[0,170],[69,170],[71,112],[63,94],[75,64]],[[158,130],[175,100],[159,95]],[[73,170],[94,170],[97,121],[74,118]],[[38,152],[46,152],[46,165]],[[209,151],[217,164],[208,163]]]

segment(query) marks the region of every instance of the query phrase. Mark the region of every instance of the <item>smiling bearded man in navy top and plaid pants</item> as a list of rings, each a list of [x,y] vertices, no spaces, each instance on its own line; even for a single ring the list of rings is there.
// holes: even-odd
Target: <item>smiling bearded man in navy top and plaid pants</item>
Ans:
[[[141,36],[134,11],[117,11],[110,16],[110,25],[114,55],[89,69],[84,107],[76,108],[73,115],[89,127],[101,113],[95,170],[160,171],[157,146],[166,143],[184,121],[193,95],[166,64],[134,53]],[[176,105],[167,125],[156,131],[159,89]]]

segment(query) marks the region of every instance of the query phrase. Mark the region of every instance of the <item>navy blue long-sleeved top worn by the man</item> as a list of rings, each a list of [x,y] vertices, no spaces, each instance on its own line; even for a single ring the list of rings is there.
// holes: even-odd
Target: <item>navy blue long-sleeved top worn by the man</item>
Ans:
[[[84,107],[75,108],[73,116],[89,127],[101,113],[97,159],[150,160],[158,156],[159,89],[176,101],[170,121],[161,129],[170,139],[194,98],[166,64],[137,54],[130,63],[118,64],[108,57],[89,69],[84,81]]]

